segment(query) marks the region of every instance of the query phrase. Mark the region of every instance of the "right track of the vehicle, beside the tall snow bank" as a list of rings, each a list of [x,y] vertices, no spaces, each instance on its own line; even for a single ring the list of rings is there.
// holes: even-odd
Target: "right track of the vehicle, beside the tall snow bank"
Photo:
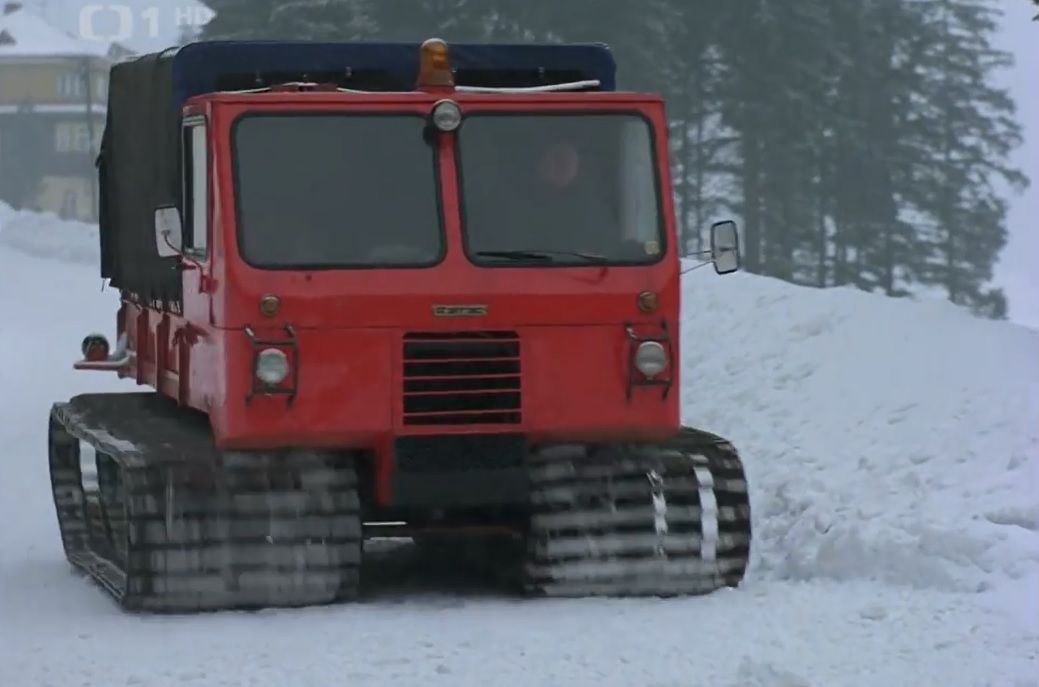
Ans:
[[[551,597],[669,597],[737,586],[750,500],[728,442],[557,446],[533,458],[526,587]]]

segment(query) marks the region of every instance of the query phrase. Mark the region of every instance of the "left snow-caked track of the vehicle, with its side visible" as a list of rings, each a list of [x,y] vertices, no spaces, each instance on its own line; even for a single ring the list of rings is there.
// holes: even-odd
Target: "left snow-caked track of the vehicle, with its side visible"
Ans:
[[[131,610],[355,598],[361,509],[348,459],[220,453],[208,427],[185,417],[155,394],[80,396],[53,406],[51,478],[69,560]],[[103,455],[99,488],[84,488],[81,442]]]

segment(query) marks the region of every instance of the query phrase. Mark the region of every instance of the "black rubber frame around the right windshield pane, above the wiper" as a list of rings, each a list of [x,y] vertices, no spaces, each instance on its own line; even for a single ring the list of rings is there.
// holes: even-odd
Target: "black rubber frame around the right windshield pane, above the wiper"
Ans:
[[[624,261],[613,260],[608,256],[605,260],[590,261],[585,258],[574,256],[571,260],[564,259],[563,256],[555,255],[552,260],[502,260],[498,258],[480,257],[479,250],[474,252],[470,244],[470,232],[468,230],[468,204],[465,203],[465,178],[462,164],[461,143],[462,136],[465,135],[465,124],[468,120],[476,117],[515,117],[523,115],[547,116],[547,117],[567,117],[567,116],[588,116],[588,115],[618,115],[637,117],[646,126],[649,136],[649,154],[652,165],[654,197],[657,202],[657,240],[660,242],[660,250],[655,257],[646,260]],[[458,203],[458,229],[461,234],[462,250],[465,259],[474,266],[484,269],[498,268],[574,268],[574,267],[652,267],[664,261],[671,250],[671,241],[668,232],[668,221],[666,216],[667,204],[664,202],[663,189],[664,179],[661,171],[659,134],[654,120],[641,109],[624,104],[620,107],[586,107],[581,105],[567,105],[562,107],[541,108],[527,104],[515,104],[514,107],[488,107],[479,105],[464,107],[462,110],[461,125],[452,136],[452,153],[454,156],[455,184],[457,187],[456,196]],[[532,245],[527,250],[537,253],[541,248]],[[552,252],[549,252],[552,253]]]

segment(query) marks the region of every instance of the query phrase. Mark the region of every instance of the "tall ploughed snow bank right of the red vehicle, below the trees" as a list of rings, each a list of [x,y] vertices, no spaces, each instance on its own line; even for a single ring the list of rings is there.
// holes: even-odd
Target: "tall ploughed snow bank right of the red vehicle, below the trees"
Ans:
[[[695,271],[683,337],[686,421],[748,466],[754,576],[1039,597],[1039,333]]]

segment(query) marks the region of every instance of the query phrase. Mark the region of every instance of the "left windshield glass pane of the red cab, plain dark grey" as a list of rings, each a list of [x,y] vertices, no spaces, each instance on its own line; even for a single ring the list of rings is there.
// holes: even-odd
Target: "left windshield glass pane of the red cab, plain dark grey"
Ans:
[[[411,114],[248,114],[239,246],[258,267],[423,266],[444,253],[436,160]]]

